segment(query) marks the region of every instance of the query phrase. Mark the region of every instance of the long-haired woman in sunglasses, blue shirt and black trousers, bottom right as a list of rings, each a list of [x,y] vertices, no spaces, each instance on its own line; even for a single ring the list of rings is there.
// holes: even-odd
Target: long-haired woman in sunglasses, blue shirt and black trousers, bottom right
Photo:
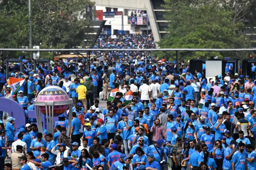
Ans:
[[[222,170],[223,158],[224,158],[224,149],[220,140],[215,141],[214,151],[212,153],[214,160],[217,164],[217,170]]]

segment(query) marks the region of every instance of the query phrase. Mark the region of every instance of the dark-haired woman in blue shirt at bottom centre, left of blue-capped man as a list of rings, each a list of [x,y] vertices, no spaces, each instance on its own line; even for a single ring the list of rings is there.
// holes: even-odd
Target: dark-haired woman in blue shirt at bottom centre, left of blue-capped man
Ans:
[[[146,165],[146,162],[147,156],[145,155],[145,152],[141,147],[137,147],[136,154],[132,158],[132,166],[134,166],[134,170],[137,170],[140,165]]]

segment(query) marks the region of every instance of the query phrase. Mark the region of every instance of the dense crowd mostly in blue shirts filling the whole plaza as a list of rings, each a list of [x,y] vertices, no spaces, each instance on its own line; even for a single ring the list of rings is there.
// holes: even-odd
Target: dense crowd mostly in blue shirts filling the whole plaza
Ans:
[[[97,47],[128,47],[138,38],[140,45],[150,43],[150,37],[123,36],[112,43],[102,38]],[[48,86],[66,91],[74,107],[72,120],[66,113],[58,117],[54,134],[38,132],[28,115],[16,132],[18,117],[1,115],[0,170],[255,170],[254,72],[244,77],[228,64],[225,75],[206,79],[205,65],[192,75],[184,61],[136,52],[102,55],[104,61],[90,60],[90,67],[68,58],[36,69],[21,57],[23,70],[5,65],[8,77],[25,80],[17,94],[1,69],[1,97],[25,112],[34,110],[34,98]]]

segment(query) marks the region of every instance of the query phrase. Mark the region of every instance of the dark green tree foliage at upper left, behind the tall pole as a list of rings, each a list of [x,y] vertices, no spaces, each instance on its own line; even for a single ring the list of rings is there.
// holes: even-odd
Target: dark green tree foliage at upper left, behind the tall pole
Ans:
[[[90,0],[31,0],[32,44],[49,48],[90,46]],[[28,0],[0,3],[0,47],[28,46]],[[41,47],[40,47],[41,48]]]

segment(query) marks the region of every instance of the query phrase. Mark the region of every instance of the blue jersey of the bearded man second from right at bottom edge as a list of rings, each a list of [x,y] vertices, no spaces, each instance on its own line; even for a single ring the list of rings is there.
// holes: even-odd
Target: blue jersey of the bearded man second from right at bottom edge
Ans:
[[[246,153],[236,151],[233,156],[231,162],[235,164],[235,170],[245,170],[245,163],[246,161]]]

